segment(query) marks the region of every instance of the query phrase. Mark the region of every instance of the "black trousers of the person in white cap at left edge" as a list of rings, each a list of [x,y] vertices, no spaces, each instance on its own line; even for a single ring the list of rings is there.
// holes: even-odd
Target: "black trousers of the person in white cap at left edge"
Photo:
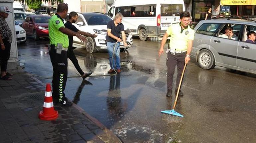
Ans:
[[[1,72],[6,72],[7,69],[7,61],[10,58],[10,51],[11,51],[11,43],[7,40],[3,39],[5,50],[0,48],[0,66]]]

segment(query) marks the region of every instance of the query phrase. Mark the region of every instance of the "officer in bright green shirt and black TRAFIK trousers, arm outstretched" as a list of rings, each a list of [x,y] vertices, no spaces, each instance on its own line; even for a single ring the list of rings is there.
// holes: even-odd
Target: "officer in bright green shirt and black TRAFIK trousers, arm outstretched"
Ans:
[[[60,3],[57,13],[49,20],[49,53],[53,65],[53,99],[61,106],[72,105],[71,102],[67,101],[64,94],[67,80],[67,48],[69,45],[67,36],[76,36],[85,42],[85,37],[65,28],[63,18],[66,17],[67,11],[67,4]]]

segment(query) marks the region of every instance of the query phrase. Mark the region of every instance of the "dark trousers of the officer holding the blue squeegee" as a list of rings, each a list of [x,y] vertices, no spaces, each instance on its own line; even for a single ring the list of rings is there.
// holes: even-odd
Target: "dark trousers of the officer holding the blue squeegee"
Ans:
[[[176,80],[176,88],[178,88],[181,80],[181,75],[183,68],[185,66],[185,57],[186,53],[175,53],[175,55],[170,52],[167,54],[166,66],[167,66],[167,89],[173,89],[173,75],[175,72],[175,67],[177,65],[177,80]]]

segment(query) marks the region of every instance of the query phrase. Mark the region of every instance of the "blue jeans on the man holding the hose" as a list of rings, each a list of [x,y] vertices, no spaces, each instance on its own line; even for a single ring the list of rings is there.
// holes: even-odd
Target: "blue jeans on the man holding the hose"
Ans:
[[[116,48],[115,48],[115,54],[112,60],[113,50],[116,43],[107,42],[107,48],[108,48],[108,55],[109,55],[109,64],[111,69],[121,69],[120,66],[120,42],[117,42]],[[113,61],[113,62],[112,62]],[[112,66],[113,64],[113,66]]]

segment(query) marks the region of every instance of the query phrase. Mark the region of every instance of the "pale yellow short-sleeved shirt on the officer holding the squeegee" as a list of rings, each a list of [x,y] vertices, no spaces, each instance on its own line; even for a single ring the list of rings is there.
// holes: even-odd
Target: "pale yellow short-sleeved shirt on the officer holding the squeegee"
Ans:
[[[181,23],[173,23],[166,33],[171,36],[170,48],[183,51],[188,49],[188,41],[194,40],[194,30],[188,26],[182,29]]]

